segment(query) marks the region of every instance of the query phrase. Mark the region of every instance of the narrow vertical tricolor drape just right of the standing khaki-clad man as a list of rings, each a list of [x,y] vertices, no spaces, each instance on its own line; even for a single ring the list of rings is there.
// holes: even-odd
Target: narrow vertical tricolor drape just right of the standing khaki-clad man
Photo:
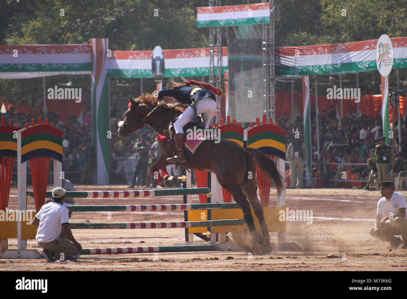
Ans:
[[[311,114],[309,103],[309,76],[302,77],[302,102],[304,103],[304,143],[308,150],[306,157],[305,177],[306,186],[311,186]]]

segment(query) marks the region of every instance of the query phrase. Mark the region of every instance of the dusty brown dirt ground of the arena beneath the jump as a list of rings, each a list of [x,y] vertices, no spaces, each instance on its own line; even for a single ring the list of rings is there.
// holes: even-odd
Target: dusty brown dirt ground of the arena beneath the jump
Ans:
[[[126,186],[76,186],[77,190],[125,190]],[[28,188],[29,189],[29,188]],[[270,200],[276,205],[276,191]],[[406,191],[401,191],[407,196]],[[0,260],[1,271],[406,271],[407,249],[389,249],[388,242],[372,238],[378,191],[352,189],[286,190],[290,210],[312,210],[313,223],[287,223],[287,242],[296,242],[301,252],[267,255],[236,252],[131,253],[82,255],[76,262],[48,263],[41,260]],[[199,203],[198,196],[193,202]],[[145,199],[76,199],[76,205],[123,205],[182,203],[182,196]],[[9,209],[17,208],[17,190],[12,188]],[[34,209],[33,199],[28,209]],[[183,221],[183,212],[75,212],[71,222]],[[164,246],[184,242],[184,229],[74,230],[83,248]],[[271,234],[271,242],[276,242]],[[204,241],[197,241],[204,244]],[[28,240],[28,249],[39,249]],[[17,240],[9,240],[17,248]],[[346,255],[344,255],[346,253]],[[158,254],[158,260],[155,255]],[[250,257],[252,258],[250,259]],[[154,260],[155,258],[155,260]]]

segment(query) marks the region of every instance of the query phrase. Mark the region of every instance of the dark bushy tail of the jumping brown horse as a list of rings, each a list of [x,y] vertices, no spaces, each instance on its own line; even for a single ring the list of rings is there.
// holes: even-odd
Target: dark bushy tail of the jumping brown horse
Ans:
[[[285,179],[278,172],[276,163],[257,148],[247,147],[244,151],[254,155],[256,167],[260,168],[269,181],[276,183],[277,192],[280,193],[285,188]]]

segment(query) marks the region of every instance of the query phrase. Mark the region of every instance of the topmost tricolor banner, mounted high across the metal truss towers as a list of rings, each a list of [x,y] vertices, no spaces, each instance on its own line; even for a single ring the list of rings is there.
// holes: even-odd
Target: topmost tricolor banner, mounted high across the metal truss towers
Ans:
[[[198,27],[239,26],[269,22],[269,2],[197,8]]]

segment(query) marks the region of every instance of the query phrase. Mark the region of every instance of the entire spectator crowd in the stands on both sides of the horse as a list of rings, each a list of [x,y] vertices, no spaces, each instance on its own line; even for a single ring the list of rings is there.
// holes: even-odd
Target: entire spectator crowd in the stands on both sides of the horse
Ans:
[[[84,113],[82,122],[73,115],[65,124],[59,120],[59,115],[50,111],[39,115],[15,113],[14,107],[2,114],[7,122],[31,124],[31,119],[37,121],[38,116],[48,118],[57,129],[63,132],[63,171],[72,183],[92,184],[94,182],[93,165],[96,163],[96,154],[92,146],[92,120],[90,111]],[[1,114],[1,113],[0,113]],[[111,131],[111,182],[128,184],[133,187],[155,187],[157,183],[151,174],[150,168],[161,155],[157,135],[151,127],[145,126],[138,130],[132,138],[120,138],[117,135],[117,123],[122,120],[123,111],[113,105],[110,111]],[[304,122],[297,116],[292,122],[289,114],[276,119],[280,127],[286,130],[287,186],[289,188],[303,188],[304,164],[308,150],[304,145]],[[388,135],[383,135],[381,116],[370,118],[362,115],[357,117],[350,106],[349,113],[340,121],[333,106],[329,111],[322,110],[318,115],[315,107],[311,105],[311,157],[313,187],[343,187],[364,188],[374,190],[379,183],[391,180],[394,183],[398,172],[407,169],[407,131],[403,120],[401,151],[398,145],[398,122],[394,129],[394,153],[385,144]],[[318,132],[317,132],[318,128]],[[318,134],[317,134],[318,133]],[[319,140],[319,152],[317,148]],[[391,160],[394,159],[394,169],[391,169]],[[129,160],[131,163],[129,163]],[[335,163],[335,164],[331,164]],[[176,166],[167,168],[170,175],[179,176],[181,169]],[[390,171],[392,170],[392,171]],[[344,175],[345,174],[345,175]]]

